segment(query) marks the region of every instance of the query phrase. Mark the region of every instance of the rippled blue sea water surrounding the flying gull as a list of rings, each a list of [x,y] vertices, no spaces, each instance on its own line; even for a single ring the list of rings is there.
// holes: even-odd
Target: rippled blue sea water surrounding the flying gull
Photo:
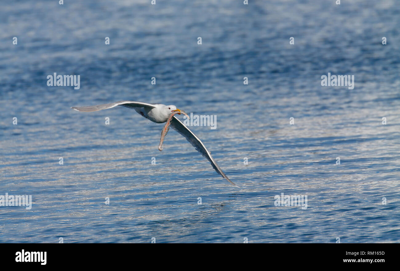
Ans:
[[[400,241],[400,1],[150,2],[1,4],[0,195],[33,203],[0,207],[0,242]],[[118,100],[215,115],[190,128],[241,189],[132,109],[70,109]]]

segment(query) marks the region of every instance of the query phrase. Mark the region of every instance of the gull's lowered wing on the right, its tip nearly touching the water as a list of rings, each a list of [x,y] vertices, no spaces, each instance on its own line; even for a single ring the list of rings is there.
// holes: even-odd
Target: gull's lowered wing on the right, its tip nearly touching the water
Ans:
[[[194,134],[185,124],[183,124],[176,116],[174,116],[171,120],[171,127],[176,130],[178,133],[182,134],[190,144],[193,145],[196,150],[201,153],[208,161],[210,161],[212,167],[215,171],[222,175],[225,179],[228,180],[232,185],[238,187],[225,175],[225,173],[220,169],[220,167],[215,163],[214,158],[212,158],[210,152],[207,150],[206,146],[201,142],[201,140]],[[238,187],[240,188],[240,187]]]

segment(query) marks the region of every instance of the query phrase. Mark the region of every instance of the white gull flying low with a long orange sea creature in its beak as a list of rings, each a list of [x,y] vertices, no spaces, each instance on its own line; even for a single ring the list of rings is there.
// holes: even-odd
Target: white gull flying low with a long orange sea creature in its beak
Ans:
[[[217,165],[215,162],[214,158],[212,158],[210,152],[207,150],[206,146],[202,143],[202,141],[194,134],[186,125],[184,125],[174,114],[178,113],[180,114],[181,112],[186,115],[182,110],[177,109],[176,106],[174,105],[165,105],[165,104],[148,104],[146,102],[135,102],[135,101],[119,101],[119,102],[112,102],[109,104],[98,104],[98,105],[92,105],[92,106],[82,106],[82,107],[71,107],[72,109],[76,111],[81,111],[81,112],[94,112],[98,110],[103,110],[103,109],[108,109],[115,107],[117,105],[128,107],[128,108],[133,108],[144,116],[145,118],[148,118],[152,122],[156,123],[163,123],[167,122],[168,118],[170,120],[167,122],[167,124],[163,128],[163,132],[168,132],[169,129],[169,124],[172,126],[174,130],[176,130],[178,133],[182,134],[187,141],[190,142],[190,144],[193,145],[193,147],[196,148],[196,150],[201,153],[208,161],[210,161],[212,167],[215,169],[217,173],[222,175],[228,182],[230,182],[232,185],[238,187],[235,185],[229,178],[228,176],[225,175],[225,173],[220,169],[220,167]],[[187,116],[187,115],[186,115]],[[166,130],[166,131],[164,131]],[[162,134],[163,134],[162,132]],[[164,134],[164,136],[165,136]],[[161,138],[160,146],[158,149],[162,151],[162,141],[164,140],[163,135]],[[240,187],[238,187],[240,188]]]

